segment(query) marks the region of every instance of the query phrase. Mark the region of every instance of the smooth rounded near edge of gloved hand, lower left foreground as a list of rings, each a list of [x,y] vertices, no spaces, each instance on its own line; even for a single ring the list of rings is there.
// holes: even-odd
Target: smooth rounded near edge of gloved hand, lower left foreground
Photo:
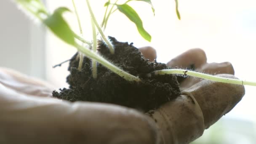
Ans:
[[[155,144],[155,125],[136,110],[61,101],[52,91],[0,69],[0,144]]]

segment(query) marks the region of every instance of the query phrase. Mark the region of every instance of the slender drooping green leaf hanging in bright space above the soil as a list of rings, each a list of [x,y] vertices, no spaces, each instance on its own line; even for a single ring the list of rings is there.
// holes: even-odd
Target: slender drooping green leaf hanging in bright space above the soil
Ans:
[[[139,17],[139,15],[136,13],[136,11],[131,8],[131,6],[127,5],[127,4],[123,4],[123,5],[117,5],[117,9],[125,14],[125,16],[128,17],[128,19],[130,19],[134,24],[136,24],[136,27],[140,33],[140,35],[147,41],[151,41],[151,35],[149,35],[149,33],[144,29],[143,27],[143,23],[141,21],[141,18]]]

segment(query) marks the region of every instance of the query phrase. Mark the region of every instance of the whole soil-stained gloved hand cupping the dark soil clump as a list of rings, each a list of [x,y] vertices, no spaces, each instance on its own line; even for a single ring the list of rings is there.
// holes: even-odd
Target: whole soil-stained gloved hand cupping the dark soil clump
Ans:
[[[193,53],[198,51],[202,52],[187,51],[168,64],[187,67],[194,62],[203,71],[226,69],[225,73],[234,74],[231,64],[206,64],[205,56],[195,61],[199,56]],[[0,143],[186,144],[201,136],[244,95],[241,85],[193,78],[181,85],[181,96],[144,115],[113,104],[55,99],[50,84],[0,68]]]

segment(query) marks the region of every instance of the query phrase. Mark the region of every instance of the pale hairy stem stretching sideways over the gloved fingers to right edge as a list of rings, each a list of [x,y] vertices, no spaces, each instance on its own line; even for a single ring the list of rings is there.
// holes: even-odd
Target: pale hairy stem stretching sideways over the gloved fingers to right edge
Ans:
[[[200,77],[205,80],[212,80],[216,82],[221,82],[221,83],[231,83],[231,84],[237,84],[237,85],[253,85],[256,86],[255,82],[249,82],[245,80],[237,80],[237,79],[232,79],[232,78],[226,78],[226,77],[217,77],[214,75],[208,75],[208,74],[203,74],[200,72],[193,72],[190,70],[185,70],[185,69],[163,69],[163,70],[157,70],[155,71],[156,75],[165,75],[165,74],[181,74],[181,75],[189,75],[189,76],[194,76],[194,77]]]

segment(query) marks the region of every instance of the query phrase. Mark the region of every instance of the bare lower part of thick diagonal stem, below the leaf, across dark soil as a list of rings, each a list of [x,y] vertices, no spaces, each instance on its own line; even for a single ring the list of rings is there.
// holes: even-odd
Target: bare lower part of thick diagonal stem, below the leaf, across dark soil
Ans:
[[[104,67],[107,67],[112,72],[115,72],[120,77],[123,77],[125,80],[131,81],[131,82],[133,82],[133,81],[136,81],[136,82],[141,81],[138,77],[135,77],[134,75],[131,75],[128,72],[125,72],[124,70],[120,69],[119,67],[115,66],[111,62],[109,62],[106,59],[104,59],[99,54],[95,53],[94,51],[91,51],[89,48],[85,48],[85,47],[83,47],[82,45],[79,45],[79,44],[75,44],[74,46],[77,48],[78,51],[83,52],[90,59],[96,60],[97,62],[102,64]]]

